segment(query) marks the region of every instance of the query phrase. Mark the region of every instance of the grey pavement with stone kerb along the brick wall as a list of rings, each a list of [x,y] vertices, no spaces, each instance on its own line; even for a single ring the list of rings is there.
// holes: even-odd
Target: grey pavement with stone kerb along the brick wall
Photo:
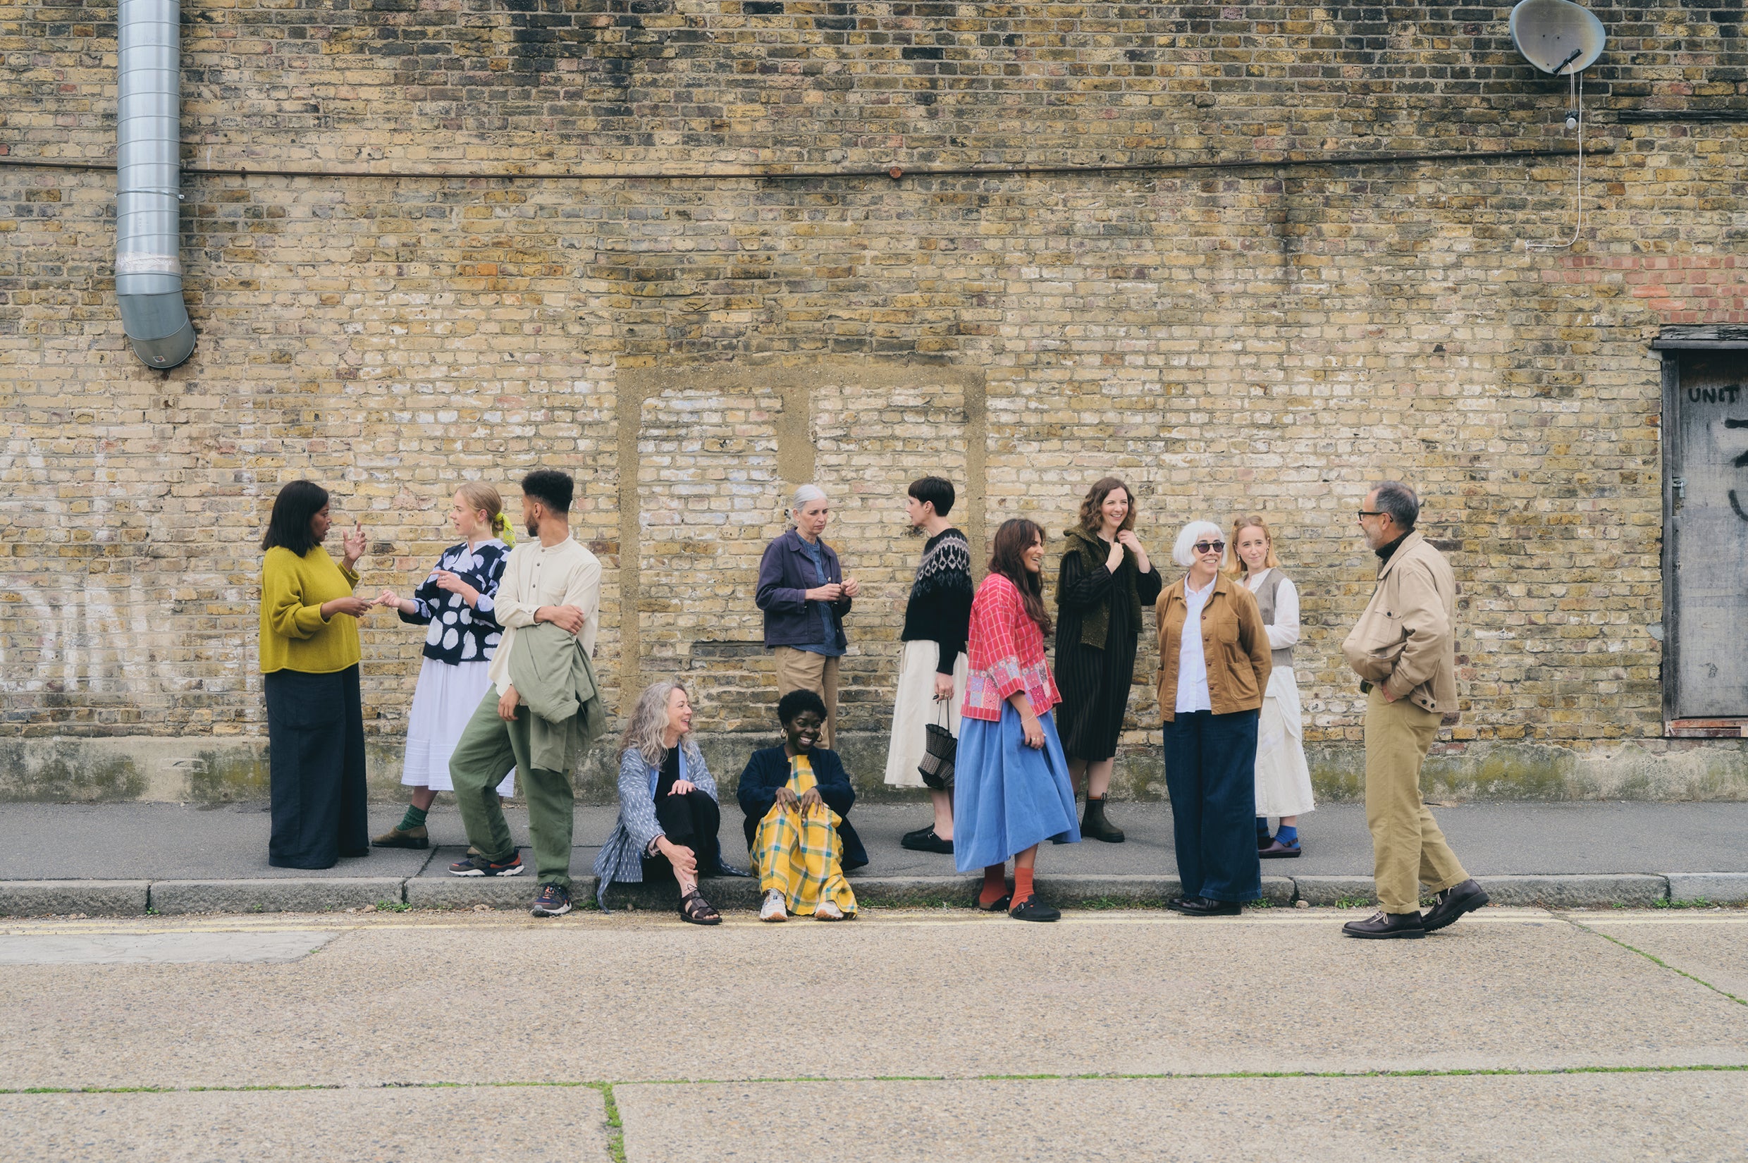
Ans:
[[[1474,803],[1435,808],[1467,867],[1500,902],[1648,906],[1706,899],[1748,902],[1748,803]],[[526,813],[510,806],[514,834],[526,838]],[[1066,904],[1159,904],[1176,892],[1171,810],[1117,804],[1122,845],[1052,845],[1038,862],[1040,885]],[[395,806],[371,811],[372,831],[400,818]],[[589,869],[614,827],[605,806],[577,810],[572,873],[579,899],[591,895]],[[961,901],[970,880],[946,855],[905,852],[898,836],[926,820],[921,806],[869,804],[851,818],[872,864],[853,874],[867,902]],[[346,909],[378,904],[418,908],[521,908],[531,876],[507,881],[458,880],[446,866],[465,848],[460,815],[447,797],[430,817],[434,848],[372,850],[325,871],[267,866],[266,804],[0,804],[0,845],[16,859],[0,869],[0,913],[129,915],[213,911]],[[1301,822],[1306,855],[1264,864],[1276,904],[1363,904],[1370,901],[1370,836],[1363,808],[1330,804]],[[745,862],[739,818],[725,813],[722,841]],[[724,908],[753,902],[750,881],[717,880],[706,888]],[[621,892],[615,901],[664,906],[662,894]]]

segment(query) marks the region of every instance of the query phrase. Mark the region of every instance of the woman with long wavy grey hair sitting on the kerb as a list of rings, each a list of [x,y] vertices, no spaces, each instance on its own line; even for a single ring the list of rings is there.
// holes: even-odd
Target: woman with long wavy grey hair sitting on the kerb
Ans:
[[[745,876],[722,862],[717,780],[692,738],[692,701],[673,680],[643,687],[619,745],[619,827],[594,859],[594,894],[607,911],[614,881],[680,883],[680,920],[717,925],[699,876]]]

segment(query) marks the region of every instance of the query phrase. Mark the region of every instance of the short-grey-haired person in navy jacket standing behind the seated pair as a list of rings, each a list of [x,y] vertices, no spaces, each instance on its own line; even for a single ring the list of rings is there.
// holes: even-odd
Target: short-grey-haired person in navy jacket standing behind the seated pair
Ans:
[[[837,554],[822,540],[832,502],[818,484],[802,484],[788,504],[792,526],[766,546],[753,598],[766,616],[766,649],[776,654],[778,698],[813,691],[825,701],[829,749],[837,731],[837,659],[850,649],[844,617],[862,593],[844,577]]]

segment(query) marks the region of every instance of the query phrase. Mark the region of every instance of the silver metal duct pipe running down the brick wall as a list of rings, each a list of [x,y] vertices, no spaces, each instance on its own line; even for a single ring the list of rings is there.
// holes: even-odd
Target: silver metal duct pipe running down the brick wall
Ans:
[[[135,353],[168,371],[194,352],[182,303],[180,0],[121,0],[115,304]]]

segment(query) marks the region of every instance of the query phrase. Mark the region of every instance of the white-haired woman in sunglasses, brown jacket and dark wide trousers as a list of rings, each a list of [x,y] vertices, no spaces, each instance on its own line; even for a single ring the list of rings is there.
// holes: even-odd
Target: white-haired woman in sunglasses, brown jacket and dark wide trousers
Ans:
[[[1236,916],[1262,895],[1253,843],[1257,715],[1269,686],[1269,635],[1250,589],[1220,572],[1225,539],[1190,521],[1171,558],[1185,567],[1159,595],[1159,710],[1166,790],[1187,916]]]

